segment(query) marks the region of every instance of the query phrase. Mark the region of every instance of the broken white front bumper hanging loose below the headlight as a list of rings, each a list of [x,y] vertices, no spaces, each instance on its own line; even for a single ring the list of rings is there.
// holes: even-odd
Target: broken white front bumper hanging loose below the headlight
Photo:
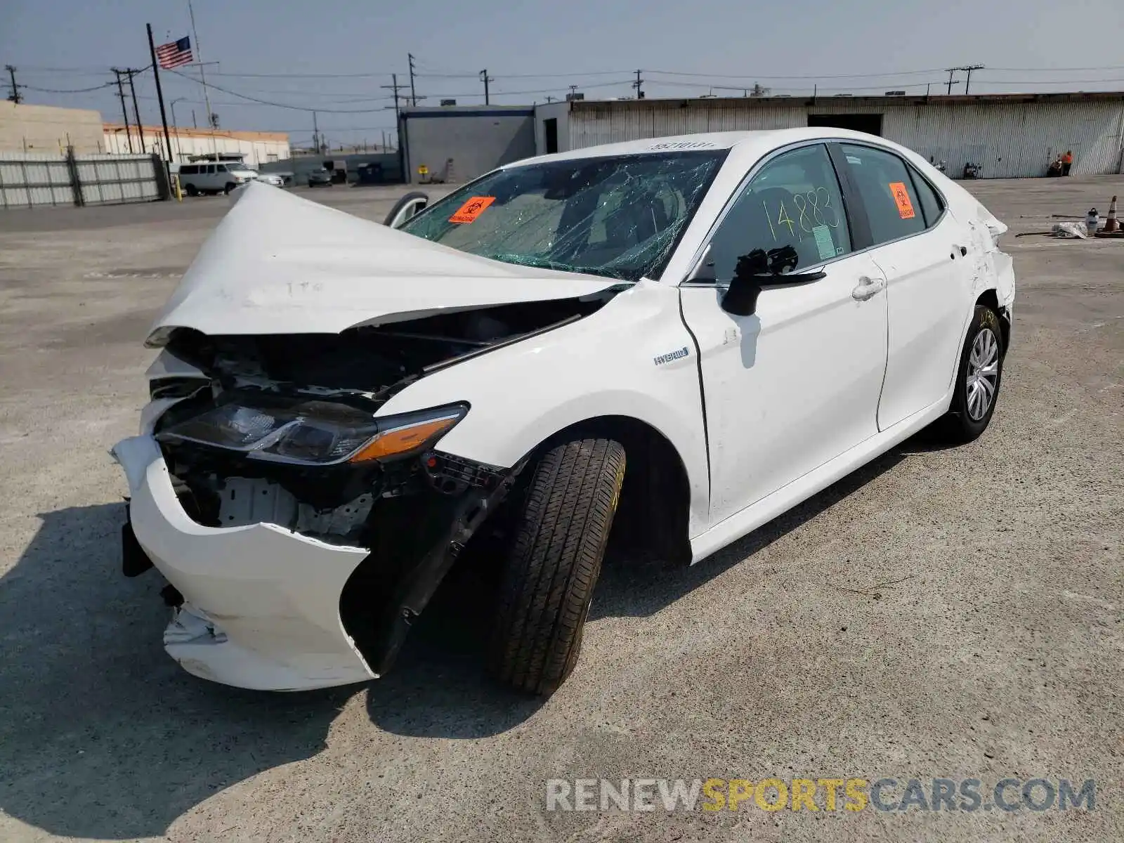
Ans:
[[[164,647],[203,679],[305,690],[375,678],[344,629],[339,598],[369,555],[273,524],[216,528],[184,511],[152,436],[112,450],[125,470],[136,538],[184,602]]]

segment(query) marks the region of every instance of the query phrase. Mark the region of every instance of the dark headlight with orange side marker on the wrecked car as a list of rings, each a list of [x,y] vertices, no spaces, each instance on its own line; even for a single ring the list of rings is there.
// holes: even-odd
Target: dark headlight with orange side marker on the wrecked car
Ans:
[[[375,418],[330,401],[236,400],[171,425],[161,442],[198,442],[253,460],[297,465],[396,460],[424,451],[464,418],[466,405]]]

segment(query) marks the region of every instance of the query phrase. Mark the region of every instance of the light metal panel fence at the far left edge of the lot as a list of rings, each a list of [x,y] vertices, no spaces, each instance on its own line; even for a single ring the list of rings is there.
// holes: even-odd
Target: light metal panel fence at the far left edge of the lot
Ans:
[[[171,196],[158,155],[0,153],[0,208],[151,202]]]

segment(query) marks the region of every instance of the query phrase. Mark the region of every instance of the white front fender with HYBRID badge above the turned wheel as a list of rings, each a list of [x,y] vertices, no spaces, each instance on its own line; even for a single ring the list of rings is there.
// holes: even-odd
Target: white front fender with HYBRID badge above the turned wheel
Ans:
[[[453,401],[471,409],[437,450],[499,466],[515,465],[560,430],[588,419],[643,422],[671,443],[683,463],[691,535],[707,526],[698,353],[676,288],[642,281],[583,319],[425,375],[379,415]]]

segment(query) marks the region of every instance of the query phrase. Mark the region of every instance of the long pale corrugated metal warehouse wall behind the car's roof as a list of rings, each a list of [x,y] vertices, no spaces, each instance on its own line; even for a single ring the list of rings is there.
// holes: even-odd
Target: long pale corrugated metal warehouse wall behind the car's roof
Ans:
[[[814,106],[779,98],[699,99],[572,106],[571,148],[698,132],[807,126],[809,114],[880,114],[883,137],[944,160],[950,175],[969,161],[982,165],[984,178],[1044,175],[1050,161],[1066,149],[1073,152],[1075,174],[1117,173],[1124,163],[1124,97],[1053,102],[951,98],[928,103],[832,98]]]

